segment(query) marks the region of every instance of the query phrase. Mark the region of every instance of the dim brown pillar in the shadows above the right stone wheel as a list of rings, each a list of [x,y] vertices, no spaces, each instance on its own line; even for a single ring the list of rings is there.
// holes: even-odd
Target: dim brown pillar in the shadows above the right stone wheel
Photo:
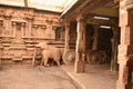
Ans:
[[[98,29],[99,29],[99,26],[94,26],[94,40],[93,40],[93,47],[92,47],[92,50],[96,50],[98,49]]]

